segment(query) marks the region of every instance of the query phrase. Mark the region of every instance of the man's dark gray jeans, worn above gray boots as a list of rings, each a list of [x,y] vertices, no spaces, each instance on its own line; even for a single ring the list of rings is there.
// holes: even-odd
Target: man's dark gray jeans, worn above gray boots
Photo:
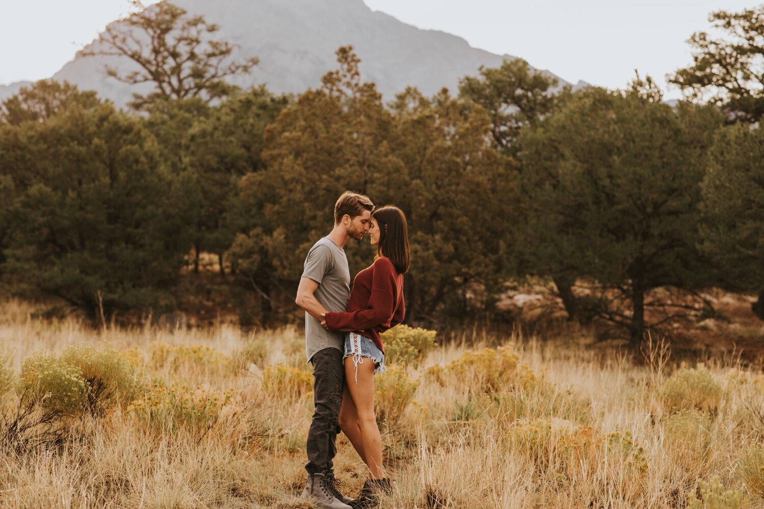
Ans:
[[[345,369],[342,352],[336,348],[319,350],[310,359],[313,365],[313,419],[308,430],[308,475],[332,470],[337,454],[339,408]]]

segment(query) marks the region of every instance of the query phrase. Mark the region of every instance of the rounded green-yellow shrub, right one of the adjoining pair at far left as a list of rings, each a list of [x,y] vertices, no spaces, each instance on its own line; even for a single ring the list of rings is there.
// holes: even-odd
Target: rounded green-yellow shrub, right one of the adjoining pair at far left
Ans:
[[[131,363],[118,351],[79,343],[68,346],[60,359],[79,369],[92,414],[101,414],[117,401],[127,403],[134,398],[137,384]]]

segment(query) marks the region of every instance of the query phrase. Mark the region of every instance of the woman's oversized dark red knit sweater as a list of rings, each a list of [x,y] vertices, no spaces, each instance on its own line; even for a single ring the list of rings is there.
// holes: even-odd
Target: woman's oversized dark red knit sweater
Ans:
[[[327,313],[329,330],[353,329],[370,337],[384,353],[380,333],[403,321],[403,274],[390,259],[380,256],[371,266],[358,272],[348,300],[348,311]]]

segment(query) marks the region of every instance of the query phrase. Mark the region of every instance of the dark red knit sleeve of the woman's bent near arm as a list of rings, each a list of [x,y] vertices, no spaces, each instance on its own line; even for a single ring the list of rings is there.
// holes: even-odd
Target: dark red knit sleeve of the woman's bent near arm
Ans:
[[[395,276],[389,259],[379,258],[374,262],[371,279],[371,298],[366,308],[356,311],[338,311],[325,315],[329,330],[366,330],[384,324],[393,316],[393,288]]]

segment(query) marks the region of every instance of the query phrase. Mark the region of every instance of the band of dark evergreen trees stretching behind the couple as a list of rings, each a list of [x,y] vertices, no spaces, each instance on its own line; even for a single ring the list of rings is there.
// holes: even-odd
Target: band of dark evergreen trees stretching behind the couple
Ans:
[[[693,36],[675,105],[649,77],[571,92],[520,59],[385,104],[351,47],[300,95],[225,85],[219,69],[257,61],[215,65],[233,50],[210,42],[217,27],[161,2],[131,22],[174,58],[111,69],[157,85],[130,111],[50,80],[2,103],[0,279],[110,317],[173,308],[183,266],[213,253],[272,321],[352,189],[409,219],[409,323],[490,314],[528,276],[553,282],[571,320],[599,317],[635,345],[681,308],[671,292],[753,292],[764,319],[764,10],[711,19],[731,40]],[[351,272],[372,257],[348,245]]]

